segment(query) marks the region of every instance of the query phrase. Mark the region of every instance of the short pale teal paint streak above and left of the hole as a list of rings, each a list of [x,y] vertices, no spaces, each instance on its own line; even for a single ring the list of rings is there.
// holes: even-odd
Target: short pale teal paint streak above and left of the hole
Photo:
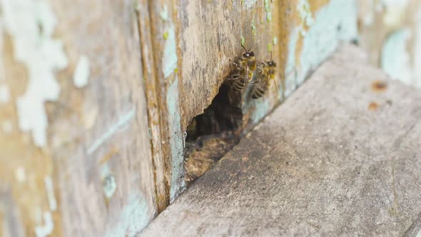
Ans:
[[[176,29],[173,24],[166,29],[168,33],[166,43],[163,49],[162,72],[165,78],[168,78],[177,69],[177,48],[176,48]]]

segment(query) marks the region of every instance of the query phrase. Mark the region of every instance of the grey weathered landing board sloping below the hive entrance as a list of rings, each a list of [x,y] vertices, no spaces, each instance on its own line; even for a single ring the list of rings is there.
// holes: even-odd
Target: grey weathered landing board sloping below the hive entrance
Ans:
[[[343,46],[140,236],[415,236],[420,101]]]

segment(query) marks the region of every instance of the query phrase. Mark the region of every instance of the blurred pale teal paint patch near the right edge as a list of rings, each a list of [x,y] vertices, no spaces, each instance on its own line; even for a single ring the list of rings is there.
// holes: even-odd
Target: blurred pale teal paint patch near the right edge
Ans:
[[[387,37],[382,47],[382,69],[393,79],[399,79],[405,84],[412,83],[410,54],[406,48],[410,37],[409,29],[395,31]]]

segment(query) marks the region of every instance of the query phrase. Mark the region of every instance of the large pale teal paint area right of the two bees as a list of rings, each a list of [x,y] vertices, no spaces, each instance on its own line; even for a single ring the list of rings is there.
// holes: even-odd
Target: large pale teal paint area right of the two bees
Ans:
[[[306,8],[307,6],[304,7]],[[300,16],[305,16],[303,19],[308,21],[308,14],[300,13]],[[303,36],[303,48],[299,53],[298,62],[295,58],[295,47],[300,37],[297,30],[291,32],[288,61],[285,67],[286,96],[303,83],[310,71],[316,69],[335,51],[341,40],[350,41],[357,37],[356,17],[357,11],[353,1],[332,0],[323,6],[315,14],[314,21],[306,23],[310,28],[304,36],[302,29],[298,29]],[[296,74],[293,73],[295,70],[297,70]]]

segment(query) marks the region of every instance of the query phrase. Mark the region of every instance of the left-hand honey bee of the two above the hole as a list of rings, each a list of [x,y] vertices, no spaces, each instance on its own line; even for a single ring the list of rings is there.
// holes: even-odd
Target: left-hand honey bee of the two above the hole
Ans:
[[[241,54],[240,59],[235,58],[235,61],[230,59],[230,63],[235,66],[235,71],[228,77],[228,80],[233,81],[234,91],[243,91],[253,79],[253,73],[257,67],[253,51],[245,49],[243,45],[241,47],[243,47],[244,52]]]

